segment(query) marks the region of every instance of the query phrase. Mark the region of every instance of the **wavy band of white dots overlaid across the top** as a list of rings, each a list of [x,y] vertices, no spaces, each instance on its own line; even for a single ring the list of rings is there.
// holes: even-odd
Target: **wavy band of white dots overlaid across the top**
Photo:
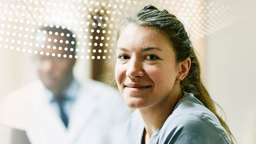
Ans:
[[[242,10],[222,1],[196,0],[8,0],[0,1],[0,48],[76,59],[111,59],[116,46],[116,28],[125,16],[152,4],[166,9],[181,20],[193,42],[241,20]],[[74,34],[76,50],[37,44],[36,40],[75,44],[74,41],[36,37],[46,34],[42,27],[67,28]],[[48,32],[64,36],[64,33]],[[70,36],[67,34],[66,36]],[[16,45],[16,46],[15,46]],[[37,49],[36,49],[37,48]],[[74,56],[44,53],[40,49],[75,51]]]

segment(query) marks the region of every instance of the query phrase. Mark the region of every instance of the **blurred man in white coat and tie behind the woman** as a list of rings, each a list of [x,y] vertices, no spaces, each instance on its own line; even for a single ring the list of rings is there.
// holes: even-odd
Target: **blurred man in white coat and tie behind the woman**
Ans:
[[[44,27],[35,38],[41,81],[8,95],[0,105],[0,122],[25,130],[33,144],[123,143],[129,110],[113,88],[74,78],[72,32]]]

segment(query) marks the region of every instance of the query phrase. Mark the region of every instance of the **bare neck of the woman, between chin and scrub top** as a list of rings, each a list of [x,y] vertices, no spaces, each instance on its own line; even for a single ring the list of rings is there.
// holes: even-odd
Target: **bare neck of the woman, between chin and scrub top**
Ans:
[[[140,115],[145,125],[145,142],[149,141],[152,134],[166,121],[172,114],[175,105],[182,98],[182,93],[179,91],[173,92],[160,103],[148,108],[139,109]],[[149,139],[148,139],[149,138]]]

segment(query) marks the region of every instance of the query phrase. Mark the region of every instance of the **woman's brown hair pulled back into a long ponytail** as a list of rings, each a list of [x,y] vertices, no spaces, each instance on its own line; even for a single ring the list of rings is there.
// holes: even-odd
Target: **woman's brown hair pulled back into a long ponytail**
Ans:
[[[228,133],[231,142],[234,143],[234,141],[236,141],[234,136],[230,132],[225,121],[217,114],[214,105],[216,103],[211,99],[201,81],[199,61],[183,24],[176,18],[176,16],[166,10],[159,11],[156,7],[147,5],[139,12],[126,17],[118,30],[117,39],[119,38],[122,28],[131,23],[138,26],[154,28],[156,31],[167,36],[176,54],[176,61],[178,63],[183,62],[188,57],[191,59],[191,67],[188,75],[180,82],[181,91],[193,93],[206,108],[211,110]],[[216,105],[220,107],[218,104]]]

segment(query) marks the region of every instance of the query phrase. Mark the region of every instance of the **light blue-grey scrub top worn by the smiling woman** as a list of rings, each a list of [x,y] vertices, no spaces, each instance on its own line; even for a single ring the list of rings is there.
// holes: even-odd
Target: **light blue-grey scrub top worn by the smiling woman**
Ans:
[[[143,131],[144,123],[136,109],[126,125],[127,144],[140,144]],[[184,92],[149,144],[231,144],[231,141],[218,118],[193,94]]]

